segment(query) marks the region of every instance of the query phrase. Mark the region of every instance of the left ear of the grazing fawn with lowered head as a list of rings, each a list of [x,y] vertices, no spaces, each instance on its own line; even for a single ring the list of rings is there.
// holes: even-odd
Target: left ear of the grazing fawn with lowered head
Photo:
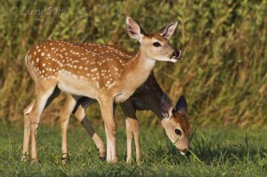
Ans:
[[[173,103],[166,93],[163,93],[160,101],[160,108],[162,116],[171,118],[173,116]]]

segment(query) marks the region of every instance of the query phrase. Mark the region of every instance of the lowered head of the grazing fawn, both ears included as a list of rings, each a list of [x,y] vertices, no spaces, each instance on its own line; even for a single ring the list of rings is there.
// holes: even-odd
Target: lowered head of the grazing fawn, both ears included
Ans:
[[[172,101],[164,93],[161,98],[161,109],[162,115],[164,116],[161,122],[166,130],[167,136],[182,155],[190,155],[190,124],[185,118],[187,112],[185,98],[181,96],[174,109]]]

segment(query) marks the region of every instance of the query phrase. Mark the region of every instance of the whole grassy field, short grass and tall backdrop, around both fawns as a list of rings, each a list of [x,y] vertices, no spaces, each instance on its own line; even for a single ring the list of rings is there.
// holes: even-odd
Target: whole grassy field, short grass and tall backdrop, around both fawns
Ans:
[[[191,137],[195,156],[182,157],[145,111],[138,113],[145,117],[141,165],[125,164],[124,128],[118,130],[119,163],[109,165],[76,124],[69,128],[69,164],[61,165],[63,95],[44,111],[40,164],[20,162],[23,109],[35,97],[25,53],[47,39],[134,52],[139,44],[126,34],[126,15],[147,32],[179,21],[170,44],[182,50],[182,60],[158,62],[154,73],[173,101],[181,94],[188,101],[190,125],[199,125]],[[0,31],[0,176],[267,176],[267,0],[11,0],[0,5]],[[98,105],[90,114],[100,125]],[[102,126],[98,132],[104,137]]]

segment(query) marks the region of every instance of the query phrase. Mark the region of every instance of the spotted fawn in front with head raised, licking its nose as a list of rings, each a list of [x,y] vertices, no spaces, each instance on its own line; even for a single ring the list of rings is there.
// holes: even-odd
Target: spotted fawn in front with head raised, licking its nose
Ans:
[[[24,112],[22,154],[26,157],[29,154],[31,140],[31,157],[37,162],[36,135],[40,117],[61,90],[72,94],[75,101],[84,96],[100,103],[107,137],[107,161],[116,163],[115,105],[128,99],[145,82],[156,60],[176,62],[182,57],[182,52],[174,50],[168,43],[176,26],[177,21],[158,33],[145,34],[133,19],[127,17],[128,35],[140,43],[131,60],[105,52],[92,52],[78,44],[63,41],[48,40],[31,48],[25,60],[36,84],[36,100]]]

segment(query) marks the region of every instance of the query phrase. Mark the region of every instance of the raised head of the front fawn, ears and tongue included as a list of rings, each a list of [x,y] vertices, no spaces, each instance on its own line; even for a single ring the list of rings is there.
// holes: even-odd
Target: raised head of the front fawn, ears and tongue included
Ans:
[[[168,42],[173,36],[177,24],[178,21],[175,21],[159,29],[157,33],[146,34],[133,19],[126,18],[128,35],[139,41],[141,51],[152,60],[176,62],[181,59],[182,52],[174,49]]]

